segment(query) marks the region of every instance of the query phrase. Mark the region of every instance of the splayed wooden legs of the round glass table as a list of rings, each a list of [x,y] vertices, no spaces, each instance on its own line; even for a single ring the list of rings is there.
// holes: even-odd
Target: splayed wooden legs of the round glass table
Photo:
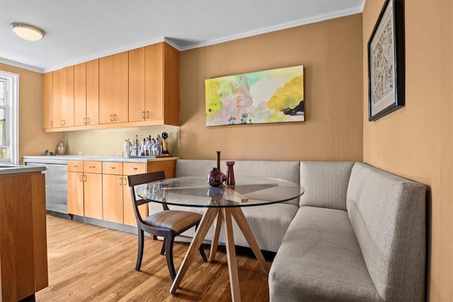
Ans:
[[[205,215],[202,218],[200,226],[195,233],[195,236],[190,243],[187,253],[185,254],[183,263],[178,269],[178,274],[173,281],[170,292],[175,294],[176,290],[179,287],[180,282],[182,281],[185,273],[187,272],[190,262],[193,260],[193,256],[198,252],[200,245],[205,239],[207,231],[209,231],[214,219],[217,217],[217,224],[215,228],[214,238],[211,243],[211,253],[209,261],[212,262],[215,259],[215,253],[217,250],[217,245],[219,243],[219,234],[222,222],[225,228],[225,244],[226,244],[226,260],[228,262],[228,272],[229,272],[229,284],[231,287],[231,299],[232,301],[241,301],[241,294],[239,291],[239,277],[238,269],[236,263],[236,251],[234,250],[234,235],[233,235],[233,223],[231,216],[234,217],[234,220],[238,224],[239,228],[243,233],[243,236],[246,238],[248,245],[250,245],[253,253],[256,256],[258,262],[260,262],[261,267],[263,267],[264,272],[269,274],[270,265],[268,262],[265,262],[263,253],[261,252],[256,239],[253,236],[250,226],[248,226],[246,217],[243,215],[243,212],[240,207],[231,207],[231,208],[208,208]]]

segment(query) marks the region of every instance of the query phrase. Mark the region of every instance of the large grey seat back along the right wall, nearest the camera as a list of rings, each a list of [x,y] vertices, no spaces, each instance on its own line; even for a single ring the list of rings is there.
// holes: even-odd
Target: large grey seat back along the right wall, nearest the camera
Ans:
[[[425,298],[426,187],[355,163],[347,208],[377,292],[385,301]]]

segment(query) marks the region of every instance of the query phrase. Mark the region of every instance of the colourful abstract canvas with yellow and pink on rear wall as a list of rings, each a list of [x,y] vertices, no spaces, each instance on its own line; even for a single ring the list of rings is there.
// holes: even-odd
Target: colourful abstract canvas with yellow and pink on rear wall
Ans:
[[[206,126],[304,121],[304,66],[205,80]]]

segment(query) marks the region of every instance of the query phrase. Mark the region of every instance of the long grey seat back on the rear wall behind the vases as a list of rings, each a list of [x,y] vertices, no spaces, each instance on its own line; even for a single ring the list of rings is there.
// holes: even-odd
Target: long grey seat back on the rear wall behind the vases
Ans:
[[[228,160],[220,163],[220,170],[226,174],[225,161]],[[214,167],[217,167],[214,160],[178,159],[176,177],[207,176]],[[299,161],[235,161],[233,168],[235,176],[280,178],[299,183]],[[299,199],[286,203],[299,205]]]

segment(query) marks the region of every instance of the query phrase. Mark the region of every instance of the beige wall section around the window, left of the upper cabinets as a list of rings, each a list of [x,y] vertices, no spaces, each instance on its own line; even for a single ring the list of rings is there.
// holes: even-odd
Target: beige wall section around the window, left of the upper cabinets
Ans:
[[[19,75],[19,158],[55,150],[61,133],[42,132],[42,74],[0,63],[0,69]]]

